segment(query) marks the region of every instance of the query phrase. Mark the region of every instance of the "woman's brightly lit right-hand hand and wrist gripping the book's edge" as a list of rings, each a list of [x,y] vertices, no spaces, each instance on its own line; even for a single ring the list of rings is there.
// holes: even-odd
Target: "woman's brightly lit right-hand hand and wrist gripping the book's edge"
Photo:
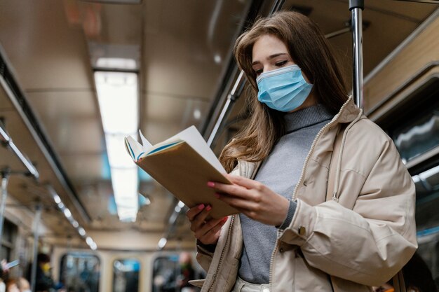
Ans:
[[[268,225],[281,225],[287,217],[290,202],[267,186],[242,176],[224,174],[233,184],[208,182],[219,200],[241,211],[245,216]]]

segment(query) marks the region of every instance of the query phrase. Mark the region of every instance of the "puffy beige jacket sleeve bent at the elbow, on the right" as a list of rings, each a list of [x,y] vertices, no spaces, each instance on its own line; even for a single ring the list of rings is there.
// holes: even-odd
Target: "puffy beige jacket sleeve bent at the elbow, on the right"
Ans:
[[[372,161],[367,173],[342,169],[340,195],[356,196],[353,208],[344,207],[342,197],[316,206],[297,200],[295,216],[279,237],[300,246],[309,265],[367,286],[391,279],[417,249],[414,183],[393,141],[379,135],[381,140],[369,137],[372,144],[356,146],[357,153],[374,147],[363,158]]]

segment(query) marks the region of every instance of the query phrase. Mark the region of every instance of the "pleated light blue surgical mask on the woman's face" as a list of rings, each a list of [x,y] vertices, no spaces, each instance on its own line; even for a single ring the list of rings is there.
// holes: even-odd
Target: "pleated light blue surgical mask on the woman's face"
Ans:
[[[297,65],[264,72],[256,78],[256,83],[259,102],[285,112],[301,106],[313,88],[305,81]]]

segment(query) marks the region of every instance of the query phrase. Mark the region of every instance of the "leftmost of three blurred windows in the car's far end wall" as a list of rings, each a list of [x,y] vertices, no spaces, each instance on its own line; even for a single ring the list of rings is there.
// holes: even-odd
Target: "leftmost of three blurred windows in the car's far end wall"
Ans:
[[[67,253],[61,258],[60,281],[70,292],[98,292],[100,259],[90,253]]]

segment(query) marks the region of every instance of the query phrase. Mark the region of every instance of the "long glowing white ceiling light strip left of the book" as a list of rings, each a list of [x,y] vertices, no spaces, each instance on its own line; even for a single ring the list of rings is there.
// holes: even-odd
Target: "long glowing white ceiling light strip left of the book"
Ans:
[[[123,138],[137,132],[137,74],[96,71],[95,83],[117,214],[121,221],[134,222],[139,209],[137,167],[126,154]]]

